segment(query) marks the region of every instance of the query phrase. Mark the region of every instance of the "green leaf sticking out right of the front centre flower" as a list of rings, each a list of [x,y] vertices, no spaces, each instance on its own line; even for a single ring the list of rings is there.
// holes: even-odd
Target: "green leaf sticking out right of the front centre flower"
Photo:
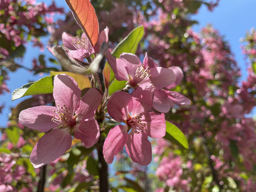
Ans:
[[[167,121],[165,122],[166,122],[166,134],[164,138],[176,143],[179,146],[182,146],[188,149],[188,141],[185,135],[180,131],[180,129],[170,122],[167,122]]]

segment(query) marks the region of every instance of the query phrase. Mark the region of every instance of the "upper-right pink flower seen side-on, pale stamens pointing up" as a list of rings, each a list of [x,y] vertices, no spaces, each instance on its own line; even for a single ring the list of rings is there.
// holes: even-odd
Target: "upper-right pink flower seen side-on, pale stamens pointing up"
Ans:
[[[171,69],[149,66],[147,54],[143,63],[137,55],[131,53],[122,53],[118,59],[107,51],[106,56],[117,81],[127,81],[132,87],[150,82],[158,89],[169,86],[176,80]]]

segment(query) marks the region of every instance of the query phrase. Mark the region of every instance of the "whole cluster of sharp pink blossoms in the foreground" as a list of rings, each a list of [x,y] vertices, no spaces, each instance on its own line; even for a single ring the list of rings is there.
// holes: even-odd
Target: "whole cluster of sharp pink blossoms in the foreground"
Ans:
[[[91,45],[85,34],[78,38],[64,32],[62,41],[69,58],[88,61],[90,55],[98,53],[101,44],[108,41],[108,28],[101,32],[95,46]],[[56,54],[54,47],[48,49]],[[134,91],[131,94],[116,92],[107,98],[107,113],[125,125],[120,124],[110,130],[103,146],[103,155],[107,163],[112,163],[114,156],[125,146],[134,162],[148,165],[151,162],[148,136],[164,137],[163,113],[169,111],[174,103],[190,104],[185,96],[169,91],[181,82],[182,70],[179,67],[157,67],[147,54],[143,63],[131,53],[123,53],[120,58],[115,58],[107,51],[106,57],[117,81],[127,81],[127,86]],[[100,90],[89,89],[80,100],[81,90],[74,78],[56,75],[53,97],[57,107],[33,107],[21,111],[19,115],[22,125],[46,132],[31,153],[30,161],[34,167],[50,163],[63,155],[71,147],[71,135],[80,139],[86,148],[92,147],[99,139],[100,128],[94,115],[103,98]],[[153,111],[153,108],[159,112]]]

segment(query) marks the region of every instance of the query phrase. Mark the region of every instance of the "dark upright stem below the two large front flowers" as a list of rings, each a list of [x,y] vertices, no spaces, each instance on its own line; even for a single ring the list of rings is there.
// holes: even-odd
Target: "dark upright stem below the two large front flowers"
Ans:
[[[100,138],[98,141],[98,169],[99,169],[99,177],[100,177],[100,192],[108,192],[108,164],[106,163],[103,157],[103,137],[100,134]]]

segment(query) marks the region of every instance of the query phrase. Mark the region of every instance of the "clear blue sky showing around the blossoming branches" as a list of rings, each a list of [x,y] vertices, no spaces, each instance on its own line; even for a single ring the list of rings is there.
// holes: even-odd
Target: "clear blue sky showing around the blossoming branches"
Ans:
[[[42,2],[49,4],[52,1],[45,0]],[[65,9],[68,10],[64,0],[55,1],[55,4],[65,7]],[[208,23],[211,23],[215,29],[219,30],[221,35],[225,36],[225,40],[229,43],[231,51],[235,54],[237,64],[242,70],[242,79],[246,78],[246,61],[241,53],[242,50],[239,39],[245,36],[246,30],[256,27],[256,20],[253,17],[255,7],[255,0],[221,0],[219,6],[217,6],[213,12],[209,12],[205,6],[202,6],[199,13],[194,16],[194,19],[199,22],[199,25],[193,27],[195,31],[198,32]],[[48,53],[48,51],[45,50],[44,54],[45,53]],[[27,67],[31,66],[33,60],[31,54],[39,55],[41,52],[39,49],[29,46],[25,58],[22,61]],[[51,56],[50,54],[48,55]],[[41,78],[41,76],[33,76],[33,74],[28,73],[26,70],[20,69],[15,73],[10,73],[10,80],[7,81],[7,85],[10,87],[11,92],[13,92],[15,89],[27,84],[28,81],[36,81],[39,78]],[[0,127],[6,126],[8,114],[10,113],[9,108],[16,106],[20,101],[22,101],[22,99],[11,102],[11,94],[5,93],[1,96],[0,105],[5,103],[5,108],[3,113],[0,114]]]

